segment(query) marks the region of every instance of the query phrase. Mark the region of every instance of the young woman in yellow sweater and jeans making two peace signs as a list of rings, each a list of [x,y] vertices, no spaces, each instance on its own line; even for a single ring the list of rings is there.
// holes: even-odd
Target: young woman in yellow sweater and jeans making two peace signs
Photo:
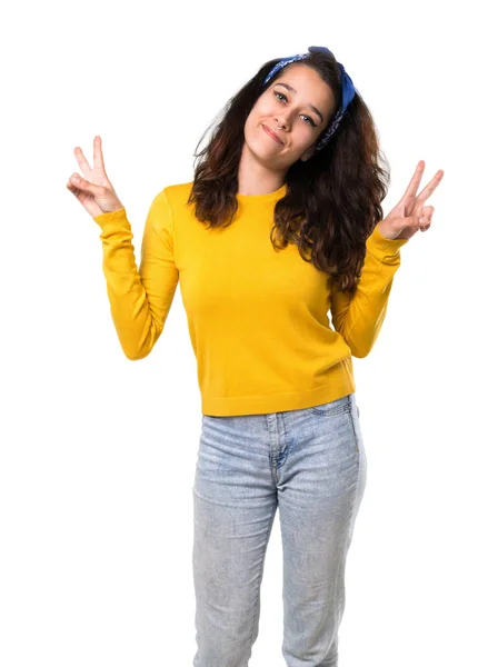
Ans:
[[[420,161],[382,218],[389,172],[372,117],[322,47],[267,62],[229,101],[193,181],[155,197],[139,269],[100,137],[93,169],[74,153],[84,178],[67,187],[101,229],[128,358],[152,350],[181,287],[202,399],[193,664],[248,664],[279,507],[283,657],[336,667],[367,474],[351,357],[371,350],[400,248],[430,227],[444,172],[417,195]]]

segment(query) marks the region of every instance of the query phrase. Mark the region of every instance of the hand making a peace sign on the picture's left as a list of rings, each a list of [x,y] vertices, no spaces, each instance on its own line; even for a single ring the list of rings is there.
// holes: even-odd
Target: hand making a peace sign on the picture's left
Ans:
[[[93,169],[90,168],[79,146],[74,148],[74,156],[84,178],[74,172],[66,186],[68,190],[74,195],[92,218],[119,211],[122,203],[106,173],[101,138],[94,137],[93,139]]]

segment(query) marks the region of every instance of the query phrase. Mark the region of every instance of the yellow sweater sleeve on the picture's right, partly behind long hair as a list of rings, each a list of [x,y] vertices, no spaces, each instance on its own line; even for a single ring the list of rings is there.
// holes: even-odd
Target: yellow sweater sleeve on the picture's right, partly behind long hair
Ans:
[[[333,290],[330,296],[332,325],[355,357],[366,357],[386,317],[392,279],[401,263],[400,248],[408,239],[387,239],[375,227],[367,239],[367,253],[355,295]]]

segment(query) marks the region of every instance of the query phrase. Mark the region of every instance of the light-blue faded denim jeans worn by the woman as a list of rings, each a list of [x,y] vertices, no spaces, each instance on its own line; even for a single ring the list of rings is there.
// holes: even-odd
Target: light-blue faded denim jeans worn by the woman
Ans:
[[[337,667],[366,479],[355,394],[299,410],[202,415],[192,487],[196,667],[248,665],[277,507],[286,665]]]

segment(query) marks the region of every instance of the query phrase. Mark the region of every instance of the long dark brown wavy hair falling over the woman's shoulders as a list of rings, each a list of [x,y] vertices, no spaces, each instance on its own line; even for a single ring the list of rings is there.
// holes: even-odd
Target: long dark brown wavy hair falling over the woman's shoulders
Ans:
[[[238,169],[245,123],[255,102],[285,73],[263,87],[280,59],[269,60],[226,104],[209,143],[195,153],[195,179],[188,203],[209,227],[228,226],[237,212]],[[309,53],[298,61],[313,68],[341,99],[340,70],[333,57]],[[336,109],[337,111],[337,109]],[[321,135],[320,135],[321,137]],[[317,142],[320,137],[317,138]],[[366,240],[382,219],[381,201],[390,181],[376,126],[358,91],[328,143],[286,175],[287,193],[277,201],[270,239],[276,249],[295,243],[306,261],[329,275],[330,288],[356,291],[366,257]],[[278,238],[276,238],[278,237]]]

